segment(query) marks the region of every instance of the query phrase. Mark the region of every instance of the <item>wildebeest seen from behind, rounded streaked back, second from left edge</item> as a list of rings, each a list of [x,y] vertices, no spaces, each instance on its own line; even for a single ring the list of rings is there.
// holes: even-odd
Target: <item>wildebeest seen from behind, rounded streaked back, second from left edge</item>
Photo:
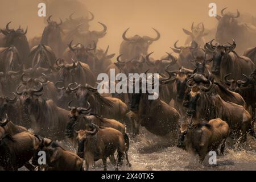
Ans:
[[[32,68],[35,66],[42,68],[51,68],[55,64],[55,53],[49,46],[39,44],[32,47],[29,55],[31,59]]]

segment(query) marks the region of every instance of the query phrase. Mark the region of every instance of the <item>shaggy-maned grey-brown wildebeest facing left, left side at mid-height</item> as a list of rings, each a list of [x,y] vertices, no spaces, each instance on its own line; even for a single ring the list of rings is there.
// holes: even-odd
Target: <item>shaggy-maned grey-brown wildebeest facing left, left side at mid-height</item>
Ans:
[[[34,133],[52,139],[64,139],[65,127],[68,123],[69,111],[57,107],[52,100],[44,100],[42,97],[43,84],[38,88],[30,88],[16,93],[20,96],[16,101],[18,112],[22,115],[22,126],[31,128]]]

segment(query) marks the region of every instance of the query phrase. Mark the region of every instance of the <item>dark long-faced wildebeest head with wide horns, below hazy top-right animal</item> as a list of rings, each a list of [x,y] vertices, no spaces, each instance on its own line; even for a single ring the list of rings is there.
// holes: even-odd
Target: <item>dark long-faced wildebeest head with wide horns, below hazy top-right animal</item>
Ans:
[[[212,73],[214,75],[220,75],[221,61],[228,59],[228,54],[234,52],[236,42],[233,40],[233,44],[230,44],[230,46],[213,46],[213,40],[205,44],[205,49],[209,55],[213,55]]]

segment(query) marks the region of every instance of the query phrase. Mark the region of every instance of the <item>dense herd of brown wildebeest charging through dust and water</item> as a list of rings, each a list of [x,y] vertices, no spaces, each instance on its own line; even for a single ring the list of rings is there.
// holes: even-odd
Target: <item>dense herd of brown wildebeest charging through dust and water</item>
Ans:
[[[0,33],[1,168],[83,170],[100,159],[104,169],[107,159],[116,169],[123,159],[130,167],[129,138],[141,126],[198,154],[200,162],[220,146],[223,153],[227,138],[238,143],[247,135],[255,138],[256,47],[251,47],[256,31],[237,23],[239,11],[236,16],[224,11],[216,17],[216,40],[205,42],[204,24],[193,23],[191,31],[183,29],[189,36],[185,46],[176,41],[171,47],[178,57],[167,52],[159,59],[148,48],[160,32],[153,28],[155,37],[129,36],[128,28],[112,61],[109,47],[97,48],[108,27],[99,22],[102,30],[90,31],[92,13],[89,18],[71,14],[65,21],[48,16],[42,36],[30,41],[28,28],[7,23]],[[110,69],[158,73],[159,97],[98,93],[97,75],[109,75]],[[60,140],[73,143],[77,153],[65,150]],[[38,162],[40,151],[46,164]]]

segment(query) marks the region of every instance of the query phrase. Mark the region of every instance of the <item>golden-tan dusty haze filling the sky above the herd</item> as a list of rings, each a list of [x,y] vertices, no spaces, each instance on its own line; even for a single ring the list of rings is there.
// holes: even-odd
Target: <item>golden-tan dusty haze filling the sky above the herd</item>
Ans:
[[[38,3],[43,0],[1,0],[0,25],[12,21],[10,27],[18,28],[19,24],[26,28],[28,26],[28,38],[42,34],[45,27],[44,18],[38,17]],[[171,0],[51,0],[48,3],[59,6],[48,7],[47,16],[53,14],[53,19],[59,16],[64,20],[69,14],[76,11],[74,17],[86,16],[86,9],[95,15],[93,22],[90,22],[90,30],[99,30],[101,26],[98,21],[108,26],[108,34],[100,39],[98,47],[106,48],[110,45],[110,53],[118,54],[119,44],[122,42],[122,32],[130,27],[127,36],[135,34],[155,36],[151,27],[156,28],[161,33],[161,39],[152,44],[149,51],[155,51],[154,56],[164,55],[165,51],[170,51],[170,46],[179,39],[180,45],[186,38],[182,28],[190,30],[191,23],[205,24],[205,28],[216,26],[217,20],[208,16],[208,5],[210,2],[217,4],[217,11],[228,7],[228,11],[249,13],[255,15],[255,0],[225,0],[225,1],[171,1]],[[51,11],[49,13],[49,11]],[[52,13],[57,11],[57,13]]]

